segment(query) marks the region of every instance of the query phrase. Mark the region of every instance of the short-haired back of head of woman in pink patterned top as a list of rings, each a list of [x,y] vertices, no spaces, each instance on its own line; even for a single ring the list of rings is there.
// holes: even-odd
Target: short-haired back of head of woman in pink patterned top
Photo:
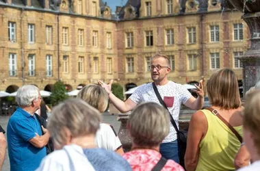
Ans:
[[[133,142],[138,146],[157,146],[170,131],[168,111],[157,103],[142,103],[127,122]]]

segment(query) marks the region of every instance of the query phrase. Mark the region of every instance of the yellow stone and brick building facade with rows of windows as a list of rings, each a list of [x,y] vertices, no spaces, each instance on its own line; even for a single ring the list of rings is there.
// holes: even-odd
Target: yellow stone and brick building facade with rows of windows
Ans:
[[[155,53],[170,57],[175,82],[207,80],[219,68],[241,81],[249,29],[241,13],[207,2],[132,0],[114,15],[98,0],[0,0],[0,90],[51,90],[57,80],[68,90],[96,79],[139,86],[152,81]]]

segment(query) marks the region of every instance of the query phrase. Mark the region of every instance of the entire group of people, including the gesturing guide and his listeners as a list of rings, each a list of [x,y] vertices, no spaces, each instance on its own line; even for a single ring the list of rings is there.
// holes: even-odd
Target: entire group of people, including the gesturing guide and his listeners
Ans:
[[[140,86],[126,101],[114,96],[112,81],[108,84],[98,81],[99,84],[82,88],[77,98],[53,107],[49,118],[41,116],[49,109],[36,114],[42,102],[38,88],[31,85],[19,88],[18,108],[7,127],[10,169],[260,168],[260,82],[248,91],[243,107],[233,70],[218,70],[207,81],[211,107],[203,109],[204,81],[196,86],[194,98],[181,84],[168,80],[170,61],[166,55],[152,57],[150,68],[153,83]],[[101,119],[108,101],[121,112],[131,111],[127,122],[132,141],[129,152],[124,152],[112,125]],[[182,104],[197,111],[190,120],[185,164],[181,166],[178,121]],[[5,157],[4,133],[0,127],[0,167]]]

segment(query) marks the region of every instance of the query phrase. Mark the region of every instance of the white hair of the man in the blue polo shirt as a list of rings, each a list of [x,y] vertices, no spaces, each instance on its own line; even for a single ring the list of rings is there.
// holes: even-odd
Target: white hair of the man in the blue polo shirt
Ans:
[[[25,85],[18,89],[16,102],[19,106],[29,106],[32,101],[38,101],[39,89],[34,85]]]

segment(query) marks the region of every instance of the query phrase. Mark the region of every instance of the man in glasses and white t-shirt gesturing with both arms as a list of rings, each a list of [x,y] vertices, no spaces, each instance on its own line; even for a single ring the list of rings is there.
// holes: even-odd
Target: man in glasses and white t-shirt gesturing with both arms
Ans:
[[[157,54],[153,56],[151,59],[150,68],[151,78],[155,82],[161,98],[164,100],[164,103],[166,103],[166,106],[168,107],[168,110],[177,125],[181,103],[195,110],[203,107],[203,81],[200,81],[200,85],[196,86],[197,90],[195,92],[198,94],[198,98],[194,98],[194,96],[192,96],[192,94],[190,94],[184,86],[168,80],[167,76],[170,73],[170,60],[166,55]],[[127,101],[124,102],[114,96],[111,92],[113,80],[111,80],[109,84],[105,84],[102,81],[98,82],[103,88],[105,88],[107,94],[109,94],[110,101],[112,101],[114,106],[121,112],[131,111],[136,105],[142,102],[153,101],[155,103],[159,103],[159,100],[153,90],[152,83],[146,83],[140,86],[140,88],[135,90]],[[161,144],[160,153],[166,159],[172,159],[179,162],[177,133],[171,123],[170,133]]]

